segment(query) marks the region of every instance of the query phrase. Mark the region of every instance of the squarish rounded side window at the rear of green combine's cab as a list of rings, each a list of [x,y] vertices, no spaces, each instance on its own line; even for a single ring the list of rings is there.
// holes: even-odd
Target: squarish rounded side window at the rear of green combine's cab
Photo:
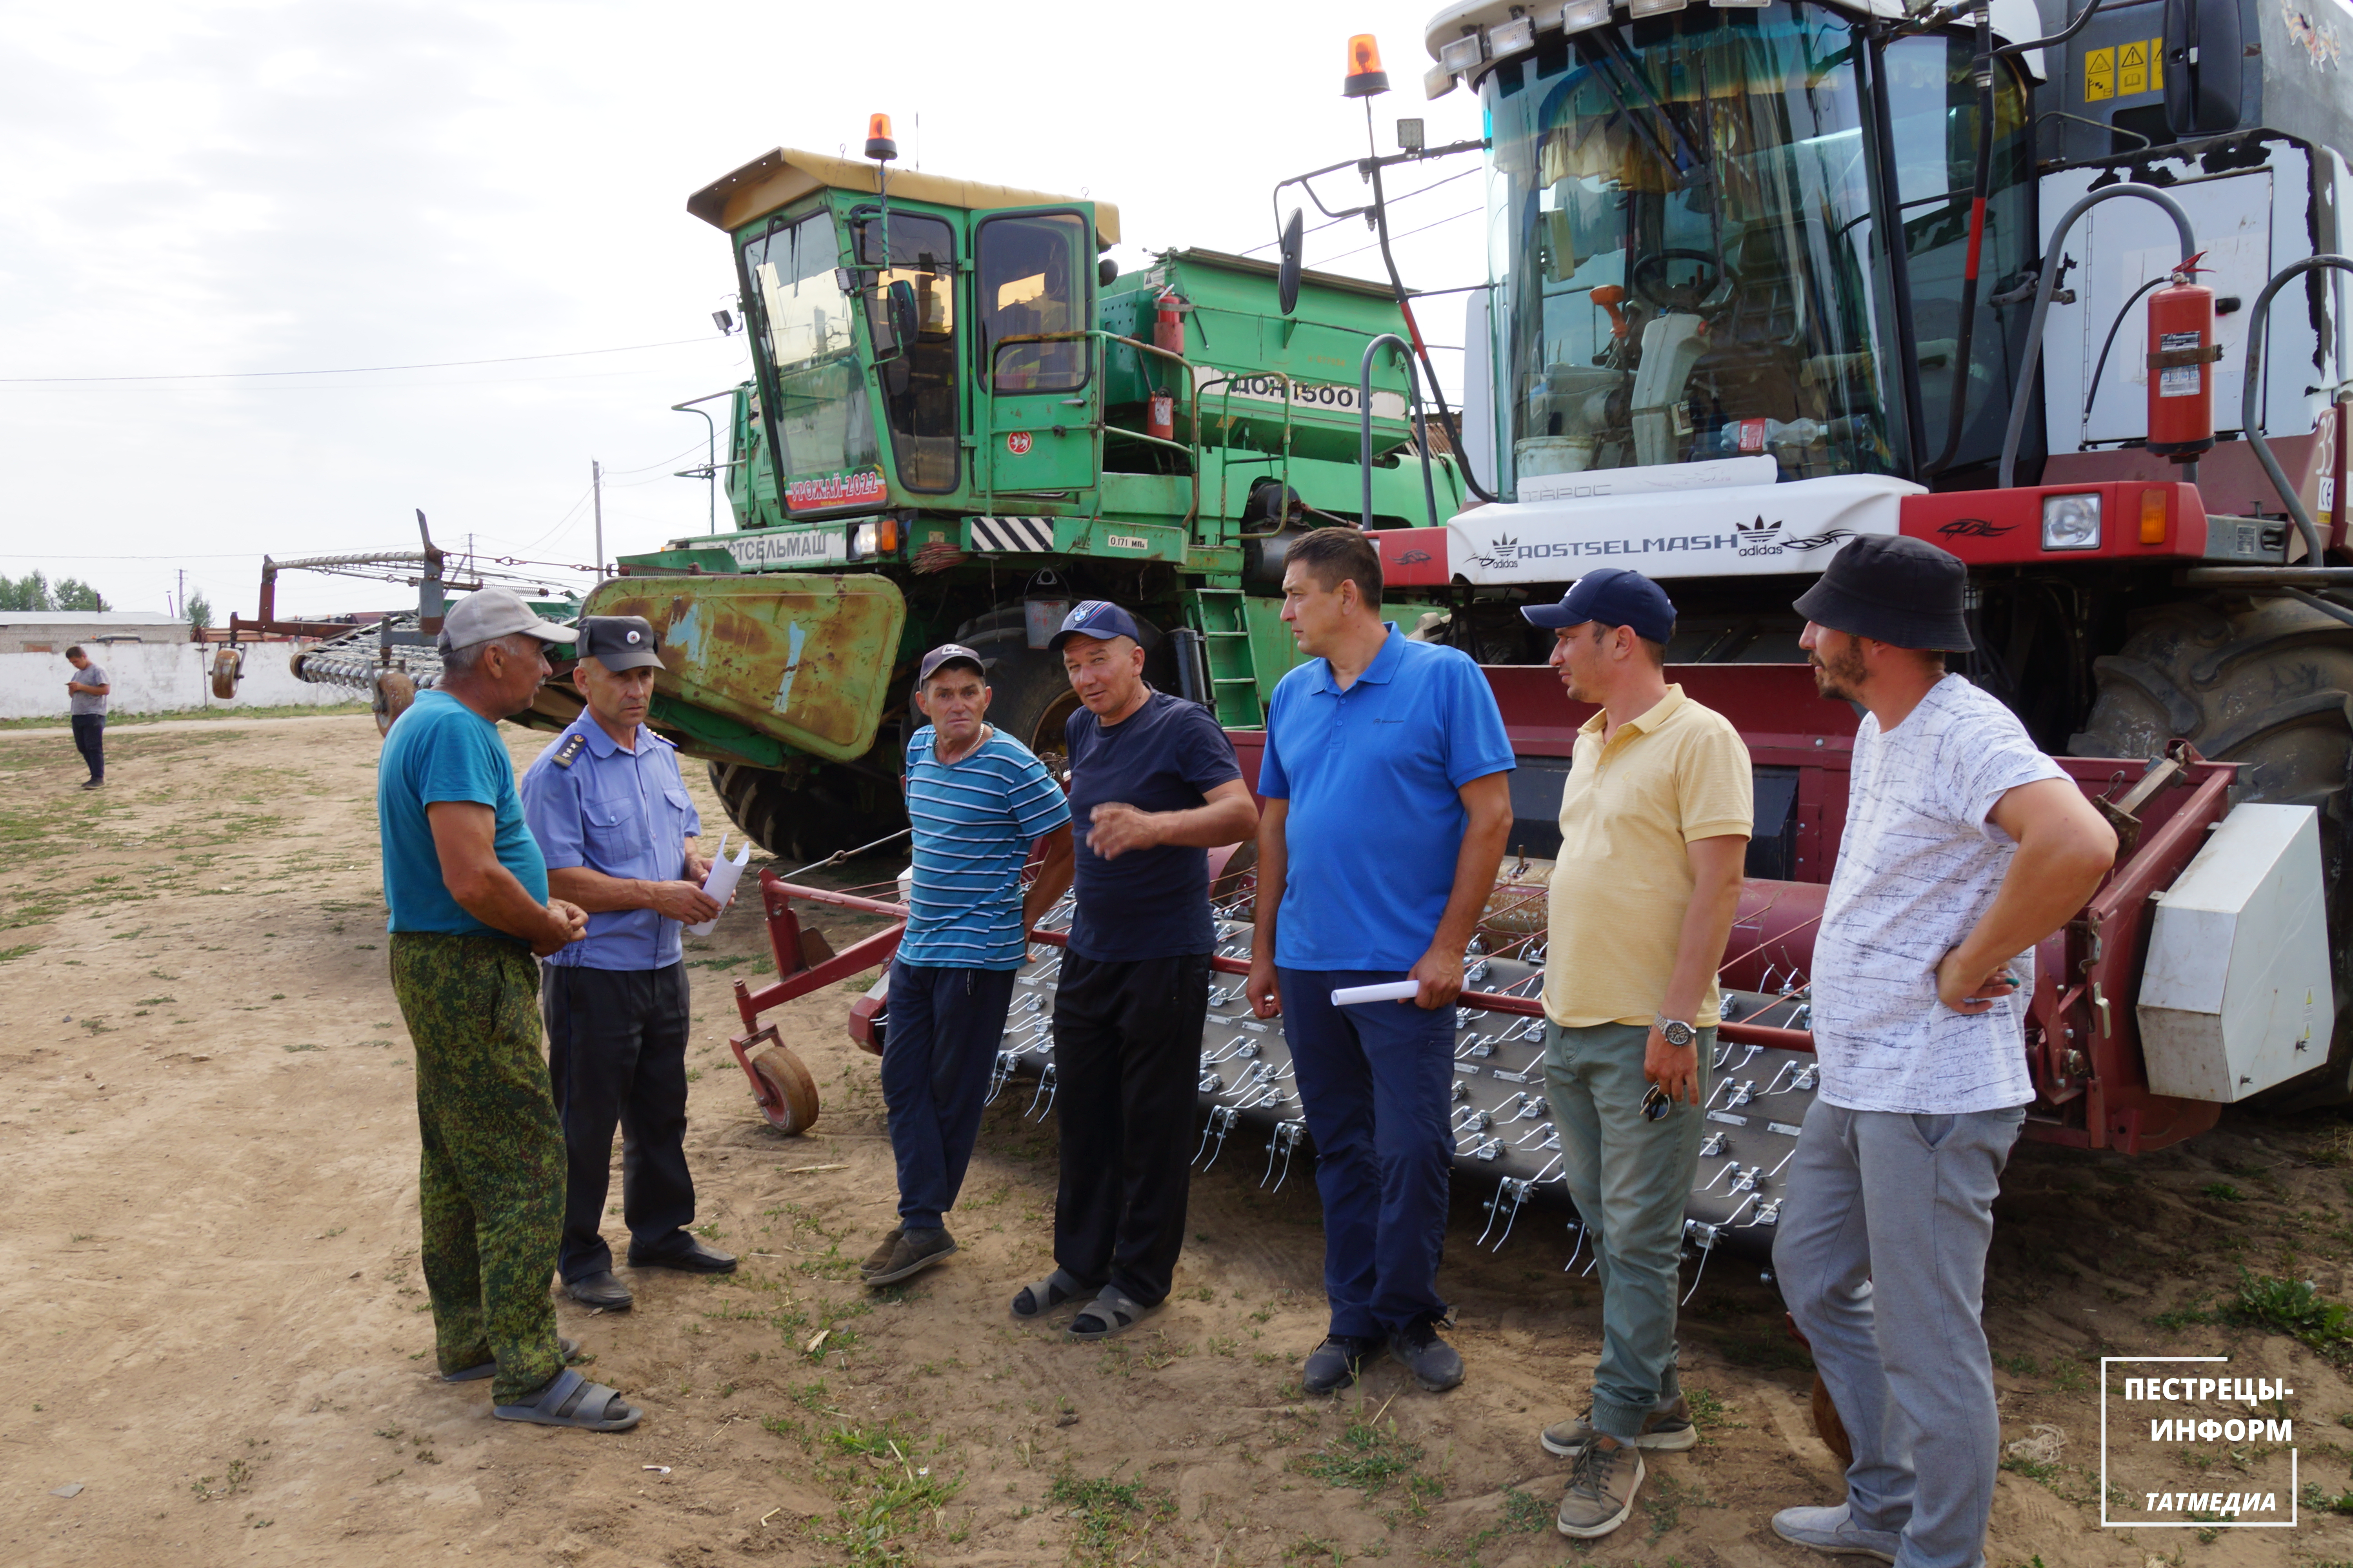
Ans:
[[[896,242],[896,235],[892,235]],[[1075,212],[988,219],[979,240],[981,369],[993,393],[1087,386],[1094,256]]]

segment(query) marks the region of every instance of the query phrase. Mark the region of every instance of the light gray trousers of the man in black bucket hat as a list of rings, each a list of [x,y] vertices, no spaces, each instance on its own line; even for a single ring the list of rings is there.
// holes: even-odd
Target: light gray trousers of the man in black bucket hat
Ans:
[[[1977,1568],[2000,1415],[1979,1321],[1993,1197],[2024,1107],[1805,1114],[1772,1262],[1854,1443],[1847,1505],[1899,1568]]]

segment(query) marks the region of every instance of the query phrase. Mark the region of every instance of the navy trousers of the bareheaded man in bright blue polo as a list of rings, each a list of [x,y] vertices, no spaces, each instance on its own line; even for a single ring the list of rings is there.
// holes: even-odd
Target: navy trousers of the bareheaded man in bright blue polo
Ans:
[[[1454,1009],[1332,1006],[1344,985],[1405,980],[1395,969],[1275,973],[1315,1140],[1332,1333],[1386,1338],[1417,1316],[1445,1316],[1438,1258],[1454,1161]]]

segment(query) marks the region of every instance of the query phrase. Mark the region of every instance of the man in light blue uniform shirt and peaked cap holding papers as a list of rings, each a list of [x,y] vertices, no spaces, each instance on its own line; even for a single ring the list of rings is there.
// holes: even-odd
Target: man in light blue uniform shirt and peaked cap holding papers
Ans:
[[[638,616],[584,616],[581,712],[522,776],[522,811],[548,886],[588,910],[588,940],[541,973],[548,1077],[565,1124],[565,1239],[572,1300],[621,1312],[628,1286],[605,1246],[612,1128],[621,1126],[621,1218],[633,1269],[729,1274],[696,1241],[687,1173],[687,966],[680,926],[720,907],[704,893],[701,816],[671,743],[645,726],[661,651]]]

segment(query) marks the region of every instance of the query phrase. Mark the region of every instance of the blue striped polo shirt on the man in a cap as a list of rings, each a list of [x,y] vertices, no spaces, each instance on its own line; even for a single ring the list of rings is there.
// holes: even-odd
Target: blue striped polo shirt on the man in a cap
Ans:
[[[899,961],[1021,969],[1021,865],[1033,842],[1071,820],[1054,776],[1000,731],[969,757],[936,762],[925,724],[906,743],[906,816],[915,827],[915,891]]]

